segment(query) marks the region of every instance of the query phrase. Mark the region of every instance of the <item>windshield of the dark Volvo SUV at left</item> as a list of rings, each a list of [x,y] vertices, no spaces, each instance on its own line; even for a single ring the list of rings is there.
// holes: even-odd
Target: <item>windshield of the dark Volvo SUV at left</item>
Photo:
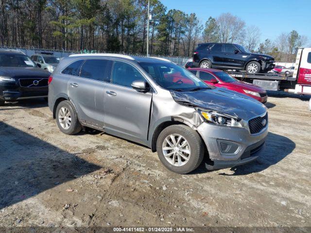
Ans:
[[[0,54],[0,67],[36,67],[36,65],[25,55]]]

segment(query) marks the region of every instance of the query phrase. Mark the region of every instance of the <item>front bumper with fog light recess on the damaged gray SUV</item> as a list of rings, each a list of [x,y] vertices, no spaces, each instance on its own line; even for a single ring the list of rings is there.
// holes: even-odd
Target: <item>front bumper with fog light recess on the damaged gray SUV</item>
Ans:
[[[268,128],[251,135],[247,129],[202,123],[197,128],[204,140],[210,163],[207,169],[223,169],[247,164],[265,149]]]

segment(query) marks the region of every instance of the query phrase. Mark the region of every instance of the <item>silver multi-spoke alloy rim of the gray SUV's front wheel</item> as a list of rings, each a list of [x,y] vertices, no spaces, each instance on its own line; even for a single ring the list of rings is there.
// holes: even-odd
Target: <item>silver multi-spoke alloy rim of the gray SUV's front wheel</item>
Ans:
[[[177,133],[165,138],[162,151],[165,159],[173,166],[184,166],[188,163],[191,154],[188,141]]]

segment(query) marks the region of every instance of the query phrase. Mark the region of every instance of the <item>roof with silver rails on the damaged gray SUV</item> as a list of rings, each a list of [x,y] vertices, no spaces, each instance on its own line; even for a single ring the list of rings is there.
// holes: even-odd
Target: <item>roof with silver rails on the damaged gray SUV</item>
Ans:
[[[118,57],[137,62],[171,62],[170,60],[161,57],[140,57],[116,53],[81,53],[81,54],[72,54],[69,55],[69,57]]]

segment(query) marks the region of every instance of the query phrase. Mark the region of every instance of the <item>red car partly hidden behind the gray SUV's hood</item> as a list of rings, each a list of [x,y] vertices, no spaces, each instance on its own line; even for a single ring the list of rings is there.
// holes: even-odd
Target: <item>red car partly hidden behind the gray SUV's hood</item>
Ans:
[[[268,96],[265,89],[239,81],[222,70],[209,68],[189,68],[188,70],[207,84],[242,93],[261,103],[267,102]]]

